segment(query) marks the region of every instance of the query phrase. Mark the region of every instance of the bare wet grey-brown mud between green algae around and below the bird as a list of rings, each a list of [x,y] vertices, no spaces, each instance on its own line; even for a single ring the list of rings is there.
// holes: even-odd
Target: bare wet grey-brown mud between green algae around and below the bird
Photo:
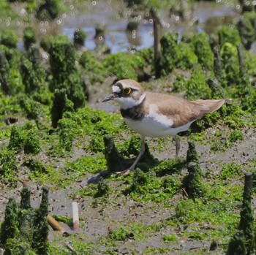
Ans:
[[[203,172],[211,170],[214,175],[217,175],[220,171],[219,162],[236,162],[244,165],[244,172],[246,172],[246,166],[251,159],[256,156],[256,130],[254,128],[244,128],[241,130],[244,134],[244,140],[238,141],[228,148],[225,152],[211,153],[210,147],[212,145],[213,134],[217,129],[221,129],[220,126],[214,126],[206,130],[206,140],[209,142],[203,145],[201,142],[196,143],[196,150],[200,157],[200,167]],[[181,157],[186,156],[187,152],[187,140],[189,137],[181,137]],[[157,140],[148,140],[148,145],[151,148]],[[174,156],[175,146],[171,139],[165,139],[164,148],[159,151],[151,149],[151,153],[159,160],[169,159]],[[82,156],[83,151],[77,151],[75,158]],[[75,158],[69,159],[73,161]],[[60,164],[61,165],[61,164]],[[95,251],[93,254],[103,254],[105,251],[113,249],[115,254],[130,254],[129,251],[135,251],[135,254],[143,254],[146,248],[170,248],[170,244],[163,242],[165,235],[179,235],[180,229],[176,229],[166,225],[162,227],[161,232],[148,232],[143,240],[136,240],[132,238],[134,235],[130,233],[131,238],[128,240],[118,242],[118,246],[106,247],[100,244],[102,238],[109,235],[111,229],[121,226],[129,226],[132,223],[138,223],[143,225],[161,224],[174,214],[170,208],[163,208],[161,203],[140,203],[135,202],[131,197],[119,195],[115,196],[115,192],[110,194],[108,201],[105,205],[98,205],[94,208],[92,205],[94,199],[92,197],[86,197],[83,199],[70,199],[69,195],[73,194],[78,189],[88,185],[88,181],[94,178],[94,175],[85,172],[84,178],[81,178],[78,182],[72,183],[71,186],[67,186],[65,189],[53,189],[50,191],[50,205],[49,213],[58,216],[72,217],[72,202],[76,200],[79,206],[80,213],[80,233],[86,234],[86,243],[92,242],[95,244]],[[242,178],[241,178],[242,180]],[[108,184],[111,189],[118,191],[123,189],[120,183],[114,180],[108,180]],[[1,186],[0,193],[0,221],[4,217],[4,208],[9,197],[15,197],[20,199],[20,190],[24,183],[18,183],[17,189],[10,189],[7,186]],[[27,182],[27,186],[31,187],[31,204],[33,207],[38,207],[41,199],[42,186],[40,183]],[[243,185],[241,183],[241,185]],[[181,193],[176,194],[175,197],[170,199],[170,203],[175,203],[178,199],[184,199]],[[254,208],[255,208],[254,200]],[[72,229],[64,225],[64,228],[68,232],[72,233]],[[75,234],[75,233],[74,233]],[[50,229],[49,239],[53,240],[56,237],[61,237],[59,232]],[[64,241],[63,241],[64,242]],[[165,254],[184,254],[189,252],[193,254],[193,251],[200,251],[203,248],[208,250],[210,246],[209,241],[193,240],[189,238],[179,238],[176,243],[172,243],[172,250]],[[191,253],[190,253],[191,252]],[[225,254],[223,250],[218,251],[217,254]]]

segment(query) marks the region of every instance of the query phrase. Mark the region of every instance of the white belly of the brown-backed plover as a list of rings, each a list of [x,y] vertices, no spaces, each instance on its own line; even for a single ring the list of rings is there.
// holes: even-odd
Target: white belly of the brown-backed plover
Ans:
[[[124,118],[125,123],[130,129],[138,132],[144,137],[170,137],[176,135],[178,132],[183,132],[189,129],[191,121],[184,126],[172,128],[173,121],[170,119],[149,117],[146,115],[142,121],[133,121],[129,118]]]

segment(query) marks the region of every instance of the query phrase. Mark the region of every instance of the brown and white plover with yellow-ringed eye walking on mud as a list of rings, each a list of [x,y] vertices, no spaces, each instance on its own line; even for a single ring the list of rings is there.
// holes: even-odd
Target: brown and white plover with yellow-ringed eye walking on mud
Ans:
[[[179,132],[206,115],[218,110],[230,99],[198,99],[188,101],[178,96],[144,91],[135,80],[119,80],[112,85],[112,94],[102,102],[114,100],[120,104],[121,115],[130,129],[141,135],[141,148],[138,157],[128,173],[135,170],[140,157],[145,152],[145,137],[173,137],[176,142],[176,156],[180,144],[176,137]]]

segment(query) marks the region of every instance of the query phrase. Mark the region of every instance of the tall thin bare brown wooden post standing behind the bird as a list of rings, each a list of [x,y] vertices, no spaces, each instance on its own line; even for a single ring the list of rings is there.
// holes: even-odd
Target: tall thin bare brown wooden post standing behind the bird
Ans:
[[[161,58],[161,45],[160,45],[160,37],[161,37],[161,28],[162,24],[157,16],[156,10],[151,7],[150,14],[153,19],[153,26],[154,26],[154,69],[156,78],[160,77],[160,66],[159,61]]]

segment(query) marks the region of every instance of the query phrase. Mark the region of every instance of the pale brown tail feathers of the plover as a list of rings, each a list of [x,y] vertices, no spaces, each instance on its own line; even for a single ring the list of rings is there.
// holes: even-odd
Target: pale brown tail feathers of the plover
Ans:
[[[192,102],[197,104],[200,114],[205,115],[206,113],[212,113],[216,110],[219,110],[219,108],[222,107],[222,104],[231,102],[231,99],[198,99]]]

